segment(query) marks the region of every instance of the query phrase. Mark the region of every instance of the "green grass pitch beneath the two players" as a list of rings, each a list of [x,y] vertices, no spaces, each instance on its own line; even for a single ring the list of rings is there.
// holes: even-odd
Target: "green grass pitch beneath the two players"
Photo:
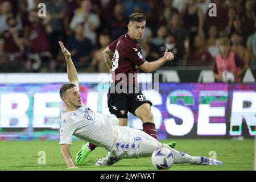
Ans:
[[[161,140],[170,142],[172,140]],[[210,151],[216,151],[217,159],[222,166],[195,166],[191,164],[174,164],[169,170],[253,170],[254,139],[175,139],[176,150],[190,155],[210,157]],[[74,141],[71,147],[73,160],[80,150],[82,141]],[[38,164],[38,152],[46,152],[46,164]],[[102,171],[149,171],[156,170],[150,158],[123,159],[113,166],[94,166],[98,158],[106,154],[106,150],[98,147],[79,169],[67,169],[60,153],[58,141],[0,141],[0,170],[102,170]]]

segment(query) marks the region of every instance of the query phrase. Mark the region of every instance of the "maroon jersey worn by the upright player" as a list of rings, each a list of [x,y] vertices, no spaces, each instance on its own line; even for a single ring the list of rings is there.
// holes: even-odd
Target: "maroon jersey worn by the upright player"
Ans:
[[[126,75],[127,84],[137,84],[139,66],[146,61],[142,56],[139,43],[125,34],[110,43],[109,49],[114,52],[112,59],[113,82],[121,80],[122,75],[118,75],[118,73],[123,73]]]

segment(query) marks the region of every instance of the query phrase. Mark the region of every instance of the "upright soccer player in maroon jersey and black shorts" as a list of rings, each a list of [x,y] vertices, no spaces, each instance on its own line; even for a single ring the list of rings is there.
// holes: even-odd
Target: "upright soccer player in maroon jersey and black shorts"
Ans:
[[[127,113],[129,111],[142,120],[143,131],[157,139],[154,117],[151,112],[152,103],[139,90],[137,74],[139,69],[147,73],[155,71],[166,61],[174,60],[174,55],[172,52],[168,52],[166,48],[163,57],[147,62],[142,56],[139,46],[139,40],[142,39],[145,26],[145,15],[141,13],[131,14],[127,34],[114,40],[103,51],[105,62],[112,72],[113,81],[108,92],[108,107],[110,113],[119,119],[119,125],[127,126]],[[169,145],[174,147],[175,143],[171,142]],[[95,147],[97,146],[92,143],[85,143],[76,155],[76,163],[81,164]]]

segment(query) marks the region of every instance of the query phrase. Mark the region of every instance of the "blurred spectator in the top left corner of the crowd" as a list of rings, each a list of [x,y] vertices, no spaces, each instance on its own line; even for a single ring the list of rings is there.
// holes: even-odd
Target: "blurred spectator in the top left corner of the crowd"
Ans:
[[[11,6],[10,1],[2,1],[1,2],[1,15],[0,15],[0,34],[3,31],[8,31],[10,27],[7,24],[7,18],[9,16],[14,16],[16,20],[16,28],[22,31],[22,20],[19,15],[13,14],[13,7]]]

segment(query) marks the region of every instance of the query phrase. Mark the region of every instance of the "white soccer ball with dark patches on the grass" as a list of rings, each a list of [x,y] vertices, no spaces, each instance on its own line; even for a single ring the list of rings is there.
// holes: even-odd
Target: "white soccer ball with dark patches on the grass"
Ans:
[[[174,164],[174,154],[168,148],[159,148],[151,156],[151,162],[157,169],[169,169]]]

